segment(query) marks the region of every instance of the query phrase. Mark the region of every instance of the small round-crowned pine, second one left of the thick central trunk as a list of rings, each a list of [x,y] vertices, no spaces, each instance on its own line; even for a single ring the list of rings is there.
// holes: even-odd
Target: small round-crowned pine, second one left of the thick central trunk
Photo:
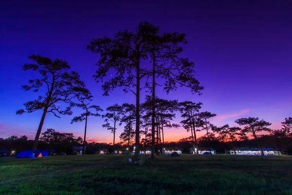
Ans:
[[[121,117],[123,115],[123,107],[119,106],[118,104],[114,104],[107,108],[108,113],[103,115],[102,117],[105,118],[106,124],[103,124],[102,127],[110,130],[111,133],[113,133],[113,143],[114,145],[114,139],[115,139],[115,132],[116,132],[116,123],[121,120]],[[113,127],[110,126],[110,121],[113,122]],[[118,124],[119,126],[122,125],[122,123]]]

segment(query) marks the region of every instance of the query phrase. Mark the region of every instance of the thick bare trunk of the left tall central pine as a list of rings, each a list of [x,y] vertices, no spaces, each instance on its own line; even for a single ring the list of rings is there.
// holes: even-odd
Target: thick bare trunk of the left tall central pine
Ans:
[[[135,139],[135,158],[138,158],[140,154],[140,143],[139,143],[139,134],[140,134],[140,64],[139,60],[137,62],[136,70],[136,139]]]

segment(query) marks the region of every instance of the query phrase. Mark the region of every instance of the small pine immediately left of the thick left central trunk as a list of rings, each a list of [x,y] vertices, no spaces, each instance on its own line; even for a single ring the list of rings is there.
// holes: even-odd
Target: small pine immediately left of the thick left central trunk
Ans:
[[[124,103],[123,107],[123,116],[121,118],[121,122],[125,123],[124,132],[121,134],[120,139],[124,142],[128,142],[128,146],[130,145],[131,139],[135,135],[135,131],[133,129],[133,125],[135,124],[136,118],[136,107],[134,104]]]

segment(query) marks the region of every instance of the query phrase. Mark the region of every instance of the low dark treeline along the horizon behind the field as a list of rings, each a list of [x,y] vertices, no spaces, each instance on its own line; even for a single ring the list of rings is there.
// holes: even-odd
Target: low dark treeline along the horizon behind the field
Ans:
[[[222,142],[219,140],[219,137],[213,137],[211,133],[210,140],[203,137],[198,139],[197,147],[198,149],[209,149],[213,148],[216,150],[217,154],[222,153],[225,154],[230,149],[235,148],[257,148],[257,142],[255,139],[246,139],[240,141],[226,141]],[[263,148],[275,148],[284,154],[292,155],[292,137],[287,136],[275,136],[275,135],[263,135],[258,137],[258,141],[260,142]],[[0,150],[13,150],[16,153],[19,153],[24,150],[31,150],[33,146],[34,140],[28,140],[26,136],[11,136],[8,138],[0,138]],[[73,146],[80,146],[82,145],[82,138],[77,137],[75,138],[73,134],[68,133],[59,133],[56,132],[54,129],[47,129],[40,138],[38,148],[42,150],[50,150],[54,149],[55,153],[66,153],[67,155],[72,154]],[[114,150],[125,151],[126,148],[131,149],[128,143],[119,142],[115,145],[111,143],[85,143],[87,146],[86,154],[97,154],[98,151],[102,149],[108,149],[109,152],[113,152]],[[140,148],[142,147],[149,147],[150,145],[145,145],[141,143]],[[192,137],[182,138],[177,142],[165,142],[164,144],[158,144],[157,150],[159,148],[180,148],[183,150],[183,153],[190,153],[190,149],[194,147]]]

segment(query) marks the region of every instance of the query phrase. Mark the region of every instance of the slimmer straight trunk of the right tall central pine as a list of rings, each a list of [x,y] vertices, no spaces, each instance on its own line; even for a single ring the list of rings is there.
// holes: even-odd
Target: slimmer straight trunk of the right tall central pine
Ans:
[[[152,75],[152,150],[151,158],[155,153],[155,58],[153,55],[153,75]]]

